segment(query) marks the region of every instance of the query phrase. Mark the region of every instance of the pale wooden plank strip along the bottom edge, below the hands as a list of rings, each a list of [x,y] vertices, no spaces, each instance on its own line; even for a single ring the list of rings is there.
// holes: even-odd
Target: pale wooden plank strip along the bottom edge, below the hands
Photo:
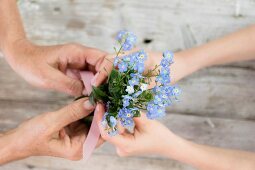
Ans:
[[[95,154],[88,163],[71,162],[58,158],[29,158],[0,167],[1,170],[192,170],[193,168],[167,159],[147,159],[140,157],[119,158],[114,155]]]

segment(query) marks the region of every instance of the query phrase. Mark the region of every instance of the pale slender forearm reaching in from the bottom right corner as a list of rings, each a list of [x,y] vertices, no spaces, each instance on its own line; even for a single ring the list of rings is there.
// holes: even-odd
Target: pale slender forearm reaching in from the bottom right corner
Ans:
[[[165,156],[180,162],[190,164],[201,170],[253,170],[255,169],[255,154],[215,148],[195,144],[179,137],[169,141],[169,147],[175,147],[164,153]]]

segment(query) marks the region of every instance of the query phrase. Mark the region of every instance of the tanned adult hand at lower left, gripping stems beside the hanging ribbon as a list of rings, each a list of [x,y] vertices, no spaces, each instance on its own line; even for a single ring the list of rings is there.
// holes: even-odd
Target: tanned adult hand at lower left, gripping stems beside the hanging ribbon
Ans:
[[[56,112],[44,113],[24,122],[4,135],[10,139],[8,145],[12,145],[13,154],[16,154],[15,158],[6,161],[29,156],[81,159],[88,129],[78,120],[93,110],[94,106],[87,99],[80,99]],[[102,141],[99,141],[98,145],[100,143]]]

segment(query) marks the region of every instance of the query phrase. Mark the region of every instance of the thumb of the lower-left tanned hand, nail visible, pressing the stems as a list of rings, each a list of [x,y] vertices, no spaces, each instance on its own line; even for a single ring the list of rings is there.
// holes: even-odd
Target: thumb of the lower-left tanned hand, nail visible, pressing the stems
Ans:
[[[58,131],[65,126],[86,117],[93,112],[94,108],[95,107],[88,99],[80,99],[56,112],[48,113],[47,119],[49,122],[52,122],[53,131]]]

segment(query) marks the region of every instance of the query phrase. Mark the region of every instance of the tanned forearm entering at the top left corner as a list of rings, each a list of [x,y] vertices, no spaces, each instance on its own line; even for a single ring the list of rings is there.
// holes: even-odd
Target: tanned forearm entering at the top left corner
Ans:
[[[9,50],[26,38],[16,0],[0,1],[0,50],[9,59]]]

